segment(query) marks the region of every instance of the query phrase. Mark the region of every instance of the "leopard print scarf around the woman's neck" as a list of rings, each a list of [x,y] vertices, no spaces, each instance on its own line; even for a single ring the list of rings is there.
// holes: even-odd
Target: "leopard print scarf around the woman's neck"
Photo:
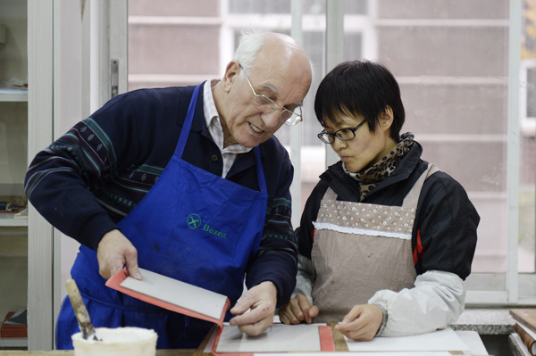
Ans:
[[[390,174],[397,168],[398,162],[402,160],[404,155],[409,151],[411,145],[413,145],[414,134],[406,132],[400,137],[401,140],[398,145],[395,146],[385,157],[377,161],[373,166],[362,170],[361,172],[350,172],[344,163],[342,168],[344,172],[351,178],[356,179],[359,182],[361,190],[360,202],[363,202],[364,198],[371,192],[377,183],[381,182],[384,178],[390,176]]]

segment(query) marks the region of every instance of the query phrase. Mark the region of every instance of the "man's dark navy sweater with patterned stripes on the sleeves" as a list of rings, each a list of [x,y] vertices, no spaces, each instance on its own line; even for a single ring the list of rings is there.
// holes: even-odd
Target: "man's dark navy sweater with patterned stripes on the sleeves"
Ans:
[[[30,203],[55,228],[96,249],[172,157],[193,89],[141,89],[114,97],[37,154],[25,178]],[[202,91],[199,96],[182,159],[221,176],[222,153],[206,128]],[[289,193],[294,170],[277,138],[259,148],[269,197],[263,238],[247,266],[246,284],[272,281],[280,306],[294,289],[297,272]],[[226,179],[259,190],[255,153],[239,154]]]

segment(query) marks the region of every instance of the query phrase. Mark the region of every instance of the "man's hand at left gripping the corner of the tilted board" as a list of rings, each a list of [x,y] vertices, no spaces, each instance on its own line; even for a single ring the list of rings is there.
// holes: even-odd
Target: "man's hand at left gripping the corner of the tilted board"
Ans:
[[[99,274],[108,279],[127,266],[129,276],[141,280],[138,269],[138,251],[129,239],[115,229],[103,236],[96,247]]]

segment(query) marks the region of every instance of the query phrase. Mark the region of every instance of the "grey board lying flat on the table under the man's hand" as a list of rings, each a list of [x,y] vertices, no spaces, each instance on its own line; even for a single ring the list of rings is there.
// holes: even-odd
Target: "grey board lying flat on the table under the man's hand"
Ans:
[[[261,335],[248,336],[242,333],[239,327],[224,324],[216,352],[320,352],[318,327],[321,325],[325,326],[325,324],[272,324],[272,327]],[[205,352],[210,352],[211,344],[212,338],[206,345]],[[318,356],[318,353],[315,355]]]

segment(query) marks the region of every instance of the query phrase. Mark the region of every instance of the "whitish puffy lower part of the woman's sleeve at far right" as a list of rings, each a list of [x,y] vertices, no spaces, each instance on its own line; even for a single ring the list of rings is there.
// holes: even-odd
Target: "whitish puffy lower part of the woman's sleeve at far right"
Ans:
[[[464,311],[465,286],[454,273],[431,270],[415,279],[415,287],[381,290],[368,301],[387,310],[378,335],[406,336],[448,327]]]

